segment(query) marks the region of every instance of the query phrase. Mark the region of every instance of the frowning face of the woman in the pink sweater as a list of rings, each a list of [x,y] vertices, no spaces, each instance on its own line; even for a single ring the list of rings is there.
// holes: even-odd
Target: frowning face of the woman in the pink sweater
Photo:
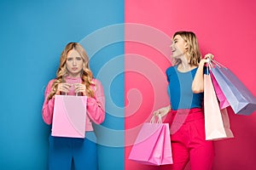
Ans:
[[[80,73],[83,69],[83,59],[80,56],[79,52],[75,49],[71,49],[67,53],[67,71],[70,77],[80,77]]]

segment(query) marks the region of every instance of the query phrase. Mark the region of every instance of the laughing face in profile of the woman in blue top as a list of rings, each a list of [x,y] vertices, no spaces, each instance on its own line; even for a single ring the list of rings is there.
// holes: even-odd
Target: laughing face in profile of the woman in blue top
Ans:
[[[183,39],[183,37],[177,35],[173,37],[172,40],[172,57],[173,58],[180,58],[183,54],[186,53],[186,45],[187,42]]]

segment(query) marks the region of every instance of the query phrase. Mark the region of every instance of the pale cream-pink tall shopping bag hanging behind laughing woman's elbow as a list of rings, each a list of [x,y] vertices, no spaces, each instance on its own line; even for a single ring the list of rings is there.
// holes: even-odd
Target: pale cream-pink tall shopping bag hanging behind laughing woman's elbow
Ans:
[[[227,112],[219,109],[210,75],[204,75],[204,110],[207,140],[233,137],[233,133],[230,130],[229,116]]]

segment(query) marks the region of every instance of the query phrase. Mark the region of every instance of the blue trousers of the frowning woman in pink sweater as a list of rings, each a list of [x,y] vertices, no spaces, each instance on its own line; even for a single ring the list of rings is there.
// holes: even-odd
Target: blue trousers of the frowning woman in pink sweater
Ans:
[[[91,141],[92,138],[94,138],[93,141]],[[86,132],[85,139],[49,135],[49,170],[70,170],[72,161],[75,170],[97,170],[95,139],[93,132]]]

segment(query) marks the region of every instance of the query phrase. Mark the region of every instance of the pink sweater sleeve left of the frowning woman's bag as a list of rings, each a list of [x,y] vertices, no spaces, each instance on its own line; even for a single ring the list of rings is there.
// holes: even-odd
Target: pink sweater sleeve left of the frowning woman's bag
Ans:
[[[46,89],[45,89],[45,92],[44,92],[44,105],[43,105],[43,119],[44,119],[44,122],[46,124],[51,124],[52,123],[52,116],[53,116],[53,110],[54,110],[54,104],[55,104],[55,99],[52,98],[52,99],[47,99],[48,98],[48,95],[50,93],[50,90],[51,90],[51,85],[52,83],[54,82],[54,80],[51,80],[49,81]]]

